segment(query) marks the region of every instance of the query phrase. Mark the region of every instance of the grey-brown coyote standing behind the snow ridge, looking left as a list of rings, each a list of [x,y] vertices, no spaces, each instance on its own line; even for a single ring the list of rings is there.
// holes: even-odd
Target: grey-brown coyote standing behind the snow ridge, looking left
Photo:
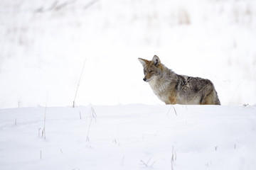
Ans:
[[[213,83],[208,79],[176,74],[161,64],[156,55],[151,61],[139,58],[144,67],[144,81],[167,104],[220,105]]]

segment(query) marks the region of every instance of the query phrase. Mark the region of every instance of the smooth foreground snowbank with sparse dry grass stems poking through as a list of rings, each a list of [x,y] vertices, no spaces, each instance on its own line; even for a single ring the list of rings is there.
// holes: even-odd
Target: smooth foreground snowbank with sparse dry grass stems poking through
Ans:
[[[255,130],[255,106],[0,109],[0,166],[253,170]]]

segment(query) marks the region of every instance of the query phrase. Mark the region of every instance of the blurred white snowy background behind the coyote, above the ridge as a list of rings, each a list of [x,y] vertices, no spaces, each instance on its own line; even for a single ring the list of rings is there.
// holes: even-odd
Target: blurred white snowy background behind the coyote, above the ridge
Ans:
[[[0,37],[0,108],[72,106],[85,59],[77,105],[164,104],[137,60],[154,55],[256,103],[253,0],[1,0]]]

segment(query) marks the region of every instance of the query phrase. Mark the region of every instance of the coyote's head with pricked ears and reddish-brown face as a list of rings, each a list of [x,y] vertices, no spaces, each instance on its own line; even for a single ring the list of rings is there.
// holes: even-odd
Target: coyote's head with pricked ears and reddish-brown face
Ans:
[[[141,62],[144,67],[144,81],[149,82],[154,79],[154,77],[161,75],[161,62],[156,55],[153,57],[152,61],[139,58],[139,62]]]

